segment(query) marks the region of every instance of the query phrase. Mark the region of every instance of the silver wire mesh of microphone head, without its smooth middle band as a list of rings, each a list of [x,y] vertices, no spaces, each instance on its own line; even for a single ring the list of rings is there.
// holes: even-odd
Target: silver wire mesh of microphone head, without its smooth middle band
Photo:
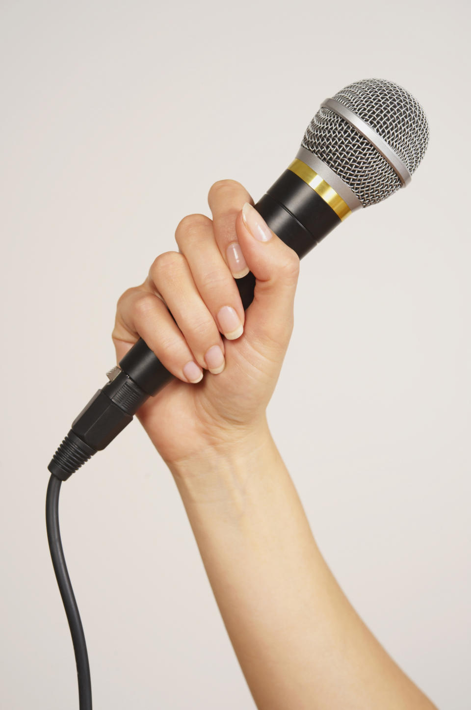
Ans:
[[[406,89],[383,79],[364,79],[332,98],[379,133],[409,173],[416,170],[427,148],[428,123],[421,104]],[[385,200],[401,187],[401,180],[381,153],[330,109],[323,107],[315,114],[301,146],[327,163],[362,207]]]

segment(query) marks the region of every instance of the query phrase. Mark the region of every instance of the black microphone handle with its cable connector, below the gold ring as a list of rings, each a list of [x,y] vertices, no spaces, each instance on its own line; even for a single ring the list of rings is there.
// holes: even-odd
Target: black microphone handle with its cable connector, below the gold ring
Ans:
[[[270,229],[303,258],[342,219],[304,180],[285,170],[255,205]],[[236,279],[244,310],[254,300],[255,277]],[[173,378],[139,339],[119,366],[109,371],[109,382],[92,397],[72,422],[72,428],[50,461],[49,471],[65,481],[126,427],[144,402]]]

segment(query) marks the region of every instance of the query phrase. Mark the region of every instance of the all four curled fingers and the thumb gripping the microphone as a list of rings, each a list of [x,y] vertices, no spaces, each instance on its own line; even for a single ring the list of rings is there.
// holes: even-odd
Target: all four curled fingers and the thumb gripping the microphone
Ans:
[[[180,222],[180,251],[158,256],[144,285],[124,293],[113,333],[118,354],[140,336],[186,382],[200,381],[204,368],[222,372],[221,334],[232,340],[245,332],[254,344],[279,351],[293,322],[296,253],[271,232],[238,182],[215,183],[208,202],[214,219],[193,214]],[[249,270],[256,287],[244,313],[234,278]]]

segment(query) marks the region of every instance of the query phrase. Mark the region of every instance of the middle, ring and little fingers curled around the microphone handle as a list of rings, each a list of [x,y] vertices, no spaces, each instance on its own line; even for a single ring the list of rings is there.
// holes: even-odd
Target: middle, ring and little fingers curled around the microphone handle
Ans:
[[[119,303],[122,329],[139,334],[175,376],[199,381],[199,368],[218,374],[225,365],[224,341],[243,332],[244,308],[231,271],[215,241],[212,221],[202,214],[185,217],[175,238],[180,252],[161,254],[141,289]],[[125,339],[119,327],[114,338]],[[182,374],[183,373],[183,374]]]

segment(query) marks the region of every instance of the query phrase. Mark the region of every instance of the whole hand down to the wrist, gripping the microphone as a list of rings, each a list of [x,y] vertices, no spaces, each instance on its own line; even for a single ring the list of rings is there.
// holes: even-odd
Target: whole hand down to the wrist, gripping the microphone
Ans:
[[[208,202],[212,220],[185,217],[175,232],[179,251],[158,256],[144,283],[121,296],[112,335],[118,361],[142,337],[175,375],[137,414],[169,466],[267,431],[266,406],[293,329],[296,252],[238,182],[216,182]],[[256,286],[244,313],[234,278],[248,271]]]

